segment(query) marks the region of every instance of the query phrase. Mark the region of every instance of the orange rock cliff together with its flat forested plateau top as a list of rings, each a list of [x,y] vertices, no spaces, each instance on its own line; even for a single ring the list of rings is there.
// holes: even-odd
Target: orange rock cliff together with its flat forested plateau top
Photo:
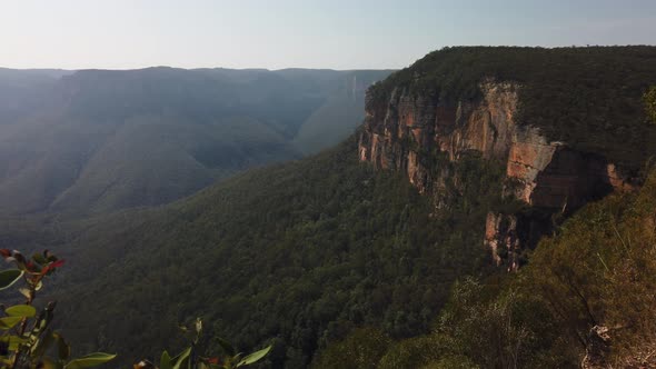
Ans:
[[[486,245],[517,269],[556,219],[639,186],[656,154],[642,100],[654,83],[654,47],[447,48],[371,88],[360,160],[405,172],[440,209],[445,163],[501,160],[524,207],[489,209]]]

